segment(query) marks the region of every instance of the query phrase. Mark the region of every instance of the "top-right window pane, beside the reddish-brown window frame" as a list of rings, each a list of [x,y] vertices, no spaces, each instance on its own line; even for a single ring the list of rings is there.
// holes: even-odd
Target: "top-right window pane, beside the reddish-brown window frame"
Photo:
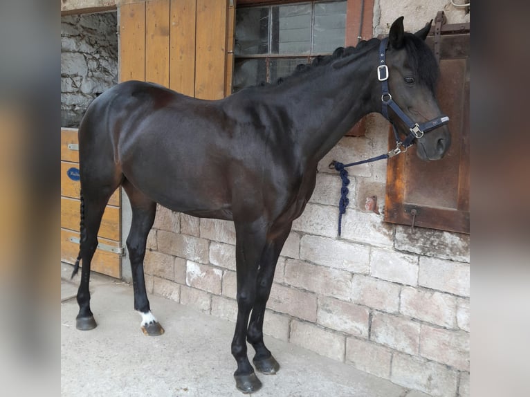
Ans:
[[[313,54],[332,53],[344,46],[346,34],[346,1],[315,4]]]

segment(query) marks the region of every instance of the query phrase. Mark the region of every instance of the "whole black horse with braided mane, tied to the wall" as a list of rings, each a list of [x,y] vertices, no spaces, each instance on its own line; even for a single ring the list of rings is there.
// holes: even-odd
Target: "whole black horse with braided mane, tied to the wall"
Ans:
[[[435,99],[438,67],[424,42],[429,30],[430,23],[415,34],[405,33],[401,17],[383,41],[339,48],[277,84],[243,89],[222,100],[198,100],[135,81],[94,100],[79,129],[81,243],[73,273],[82,260],[77,329],[96,326],[90,264],[105,205],[120,185],[132,207],[127,248],[134,308],[148,335],[163,333],[150,311],[143,273],[156,203],[193,216],[227,219],[236,231],[234,376],[241,391],[259,389],[246,340],[255,349],[257,371],[280,368],[263,341],[265,306],[291,225],[313,193],[318,161],[371,112],[386,113],[398,133],[412,137],[408,143],[417,141],[424,160],[441,158],[449,147],[450,134],[446,125],[439,127],[446,121],[439,122],[444,118]],[[421,124],[411,126],[410,119]],[[439,128],[423,136],[420,127],[428,120],[425,131]]]

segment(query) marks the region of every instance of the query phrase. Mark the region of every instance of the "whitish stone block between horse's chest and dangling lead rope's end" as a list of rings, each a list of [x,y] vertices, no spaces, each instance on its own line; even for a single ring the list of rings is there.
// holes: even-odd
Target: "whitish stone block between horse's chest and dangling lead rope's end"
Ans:
[[[293,230],[334,239],[337,237],[337,216],[337,207],[307,203],[302,216],[293,222]]]

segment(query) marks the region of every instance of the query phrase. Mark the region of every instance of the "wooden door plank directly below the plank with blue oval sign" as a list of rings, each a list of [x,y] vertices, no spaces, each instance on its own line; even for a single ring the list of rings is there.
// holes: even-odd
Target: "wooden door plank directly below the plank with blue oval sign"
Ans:
[[[80,231],[80,200],[61,197],[61,228]],[[120,208],[107,205],[98,236],[120,241]]]

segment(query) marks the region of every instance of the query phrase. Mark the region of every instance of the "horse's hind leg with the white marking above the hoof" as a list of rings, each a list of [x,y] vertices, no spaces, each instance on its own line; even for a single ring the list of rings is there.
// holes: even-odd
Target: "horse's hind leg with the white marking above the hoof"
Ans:
[[[145,194],[136,189],[127,179],[125,179],[123,187],[129,197],[132,210],[131,230],[129,231],[129,237],[127,237],[127,250],[129,250],[129,259],[131,261],[134,309],[142,316],[140,327],[145,335],[162,335],[164,329],[151,313],[143,271],[147,235],[154,223],[156,203],[148,199]]]

